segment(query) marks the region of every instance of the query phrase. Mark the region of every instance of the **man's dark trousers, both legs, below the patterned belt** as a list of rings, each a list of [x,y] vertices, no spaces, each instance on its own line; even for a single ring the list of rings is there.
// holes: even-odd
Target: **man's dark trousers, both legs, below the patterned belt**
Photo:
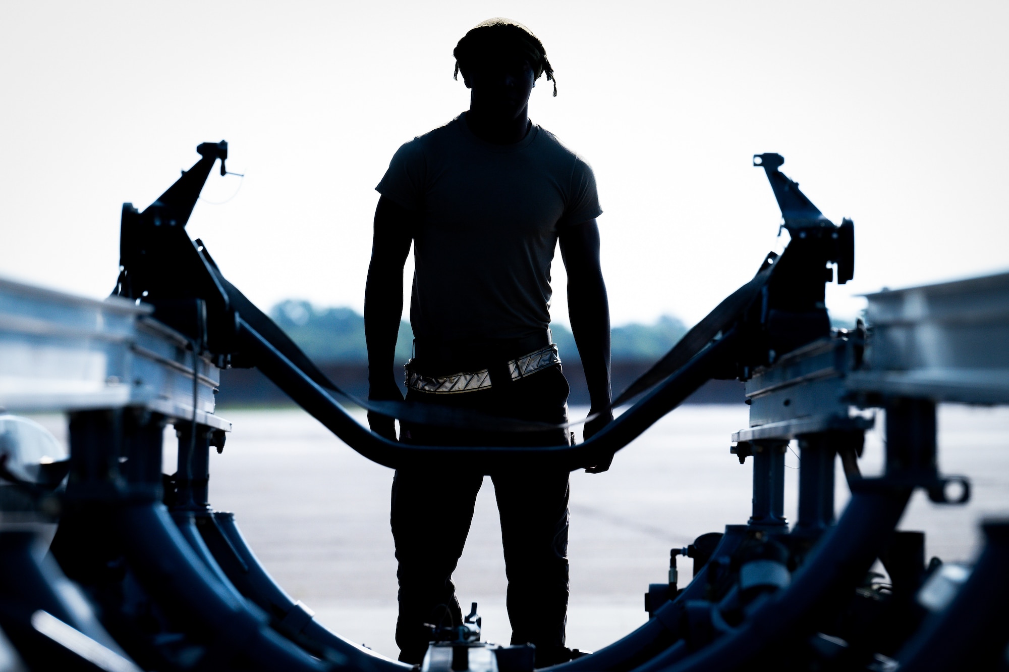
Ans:
[[[408,401],[469,408],[513,418],[563,423],[568,384],[553,366],[496,389],[458,395],[411,390]],[[406,427],[402,440],[427,445],[558,445],[567,430],[537,433],[473,433]],[[500,515],[508,577],[507,605],[512,644],[537,647],[537,667],[565,660],[568,601],[568,472],[510,469],[490,474]],[[469,533],[483,474],[464,469],[398,470],[391,516],[400,617],[400,660],[423,660],[428,624],[459,625],[455,571]]]

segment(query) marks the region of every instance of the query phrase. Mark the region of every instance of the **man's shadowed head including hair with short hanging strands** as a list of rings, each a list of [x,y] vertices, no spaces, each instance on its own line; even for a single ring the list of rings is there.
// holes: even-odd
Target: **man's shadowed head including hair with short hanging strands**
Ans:
[[[557,83],[539,37],[523,24],[507,18],[492,18],[476,24],[463,35],[452,52],[455,75],[462,73],[472,90],[473,103],[500,114],[525,109],[536,80],[546,73]]]

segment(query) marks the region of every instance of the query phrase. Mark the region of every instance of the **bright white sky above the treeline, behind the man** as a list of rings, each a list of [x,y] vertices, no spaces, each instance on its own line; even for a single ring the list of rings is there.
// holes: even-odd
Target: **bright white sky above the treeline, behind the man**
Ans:
[[[451,51],[495,15],[542,38],[559,96],[541,80],[531,116],[596,172],[614,324],[693,323],[780,249],[764,151],[855,220],[835,314],[1009,268],[1004,1],[7,1],[0,275],[108,294],[121,203],[146,207],[223,138],[247,177],[197,206],[193,237],[263,309],[359,310],[374,185],[467,107]],[[205,196],[238,184],[214,174]]]

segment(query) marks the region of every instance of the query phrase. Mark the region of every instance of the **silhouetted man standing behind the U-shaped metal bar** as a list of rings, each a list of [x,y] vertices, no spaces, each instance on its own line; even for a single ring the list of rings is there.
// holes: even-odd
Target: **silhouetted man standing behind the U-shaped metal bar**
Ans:
[[[454,50],[470,89],[469,110],[400,147],[381,194],[364,299],[369,398],[402,399],[393,375],[403,312],[403,267],[411,242],[414,358],[407,400],[532,421],[567,421],[568,384],[550,336],[550,264],[560,242],[568,272],[571,327],[591,396],[586,438],[612,419],[609,310],[599,267],[602,213],[591,169],[529,120],[529,97],[544,73],[543,44],[508,19],[484,21]],[[556,83],[554,95],[557,95]],[[572,353],[573,354],[573,353]],[[396,439],[390,419],[371,428]],[[402,428],[400,440],[428,445],[558,445],[564,429],[534,434]],[[513,644],[533,643],[537,666],[570,659],[568,474],[491,474],[509,579]],[[391,525],[400,562],[400,660],[420,663],[425,624],[461,623],[452,572],[462,554],[481,473],[399,470]]]

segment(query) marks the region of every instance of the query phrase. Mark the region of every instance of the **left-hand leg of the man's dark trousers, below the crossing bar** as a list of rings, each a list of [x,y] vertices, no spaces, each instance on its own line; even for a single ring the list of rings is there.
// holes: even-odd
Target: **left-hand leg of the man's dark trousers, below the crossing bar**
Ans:
[[[462,622],[452,583],[473,519],[483,476],[444,471],[397,471],[390,523],[400,566],[400,660],[420,663],[430,630],[425,624]]]

